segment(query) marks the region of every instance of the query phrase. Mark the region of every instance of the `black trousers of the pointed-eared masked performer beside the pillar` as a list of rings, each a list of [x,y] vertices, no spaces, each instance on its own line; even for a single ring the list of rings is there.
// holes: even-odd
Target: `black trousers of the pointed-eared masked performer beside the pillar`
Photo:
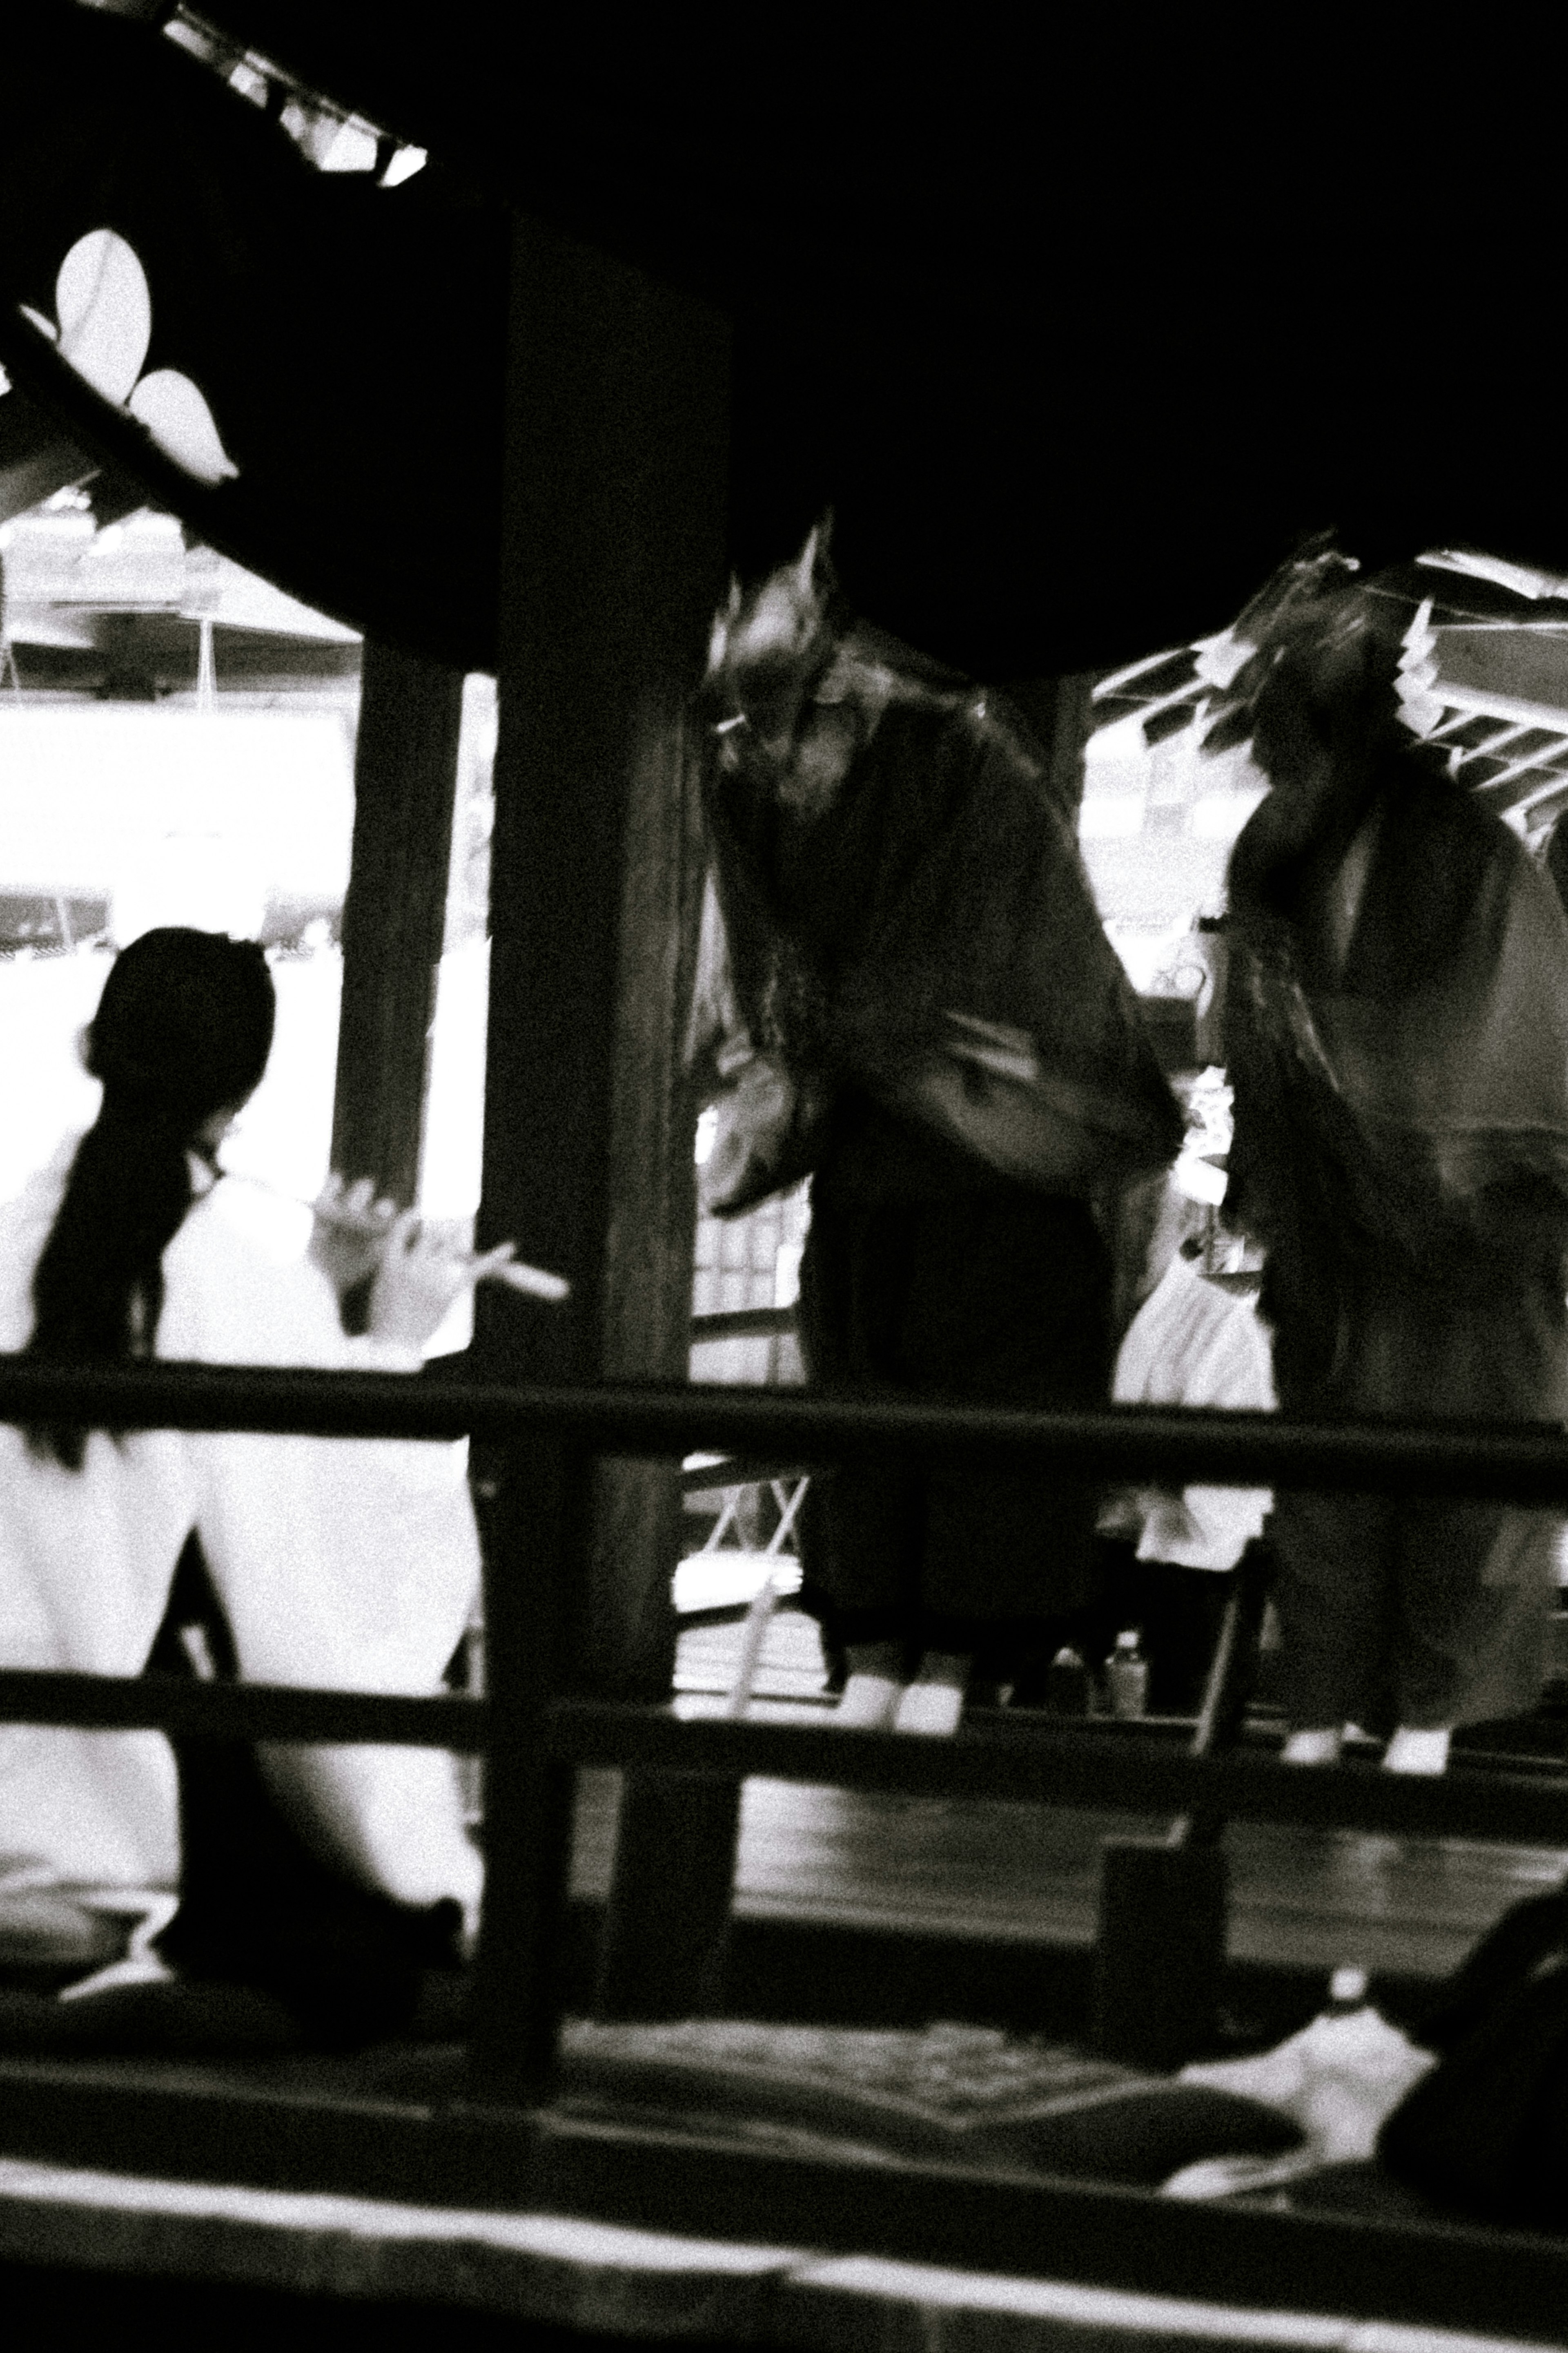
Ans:
[[[1110,1254],[1086,1202],[813,1186],[799,1329],[813,1386],[860,1398],[1093,1407],[1110,1393]],[[839,1464],[802,1506],[802,1600],[830,1647],[898,1640],[1009,1675],[1098,1598],[1095,1494],[1058,1471]]]

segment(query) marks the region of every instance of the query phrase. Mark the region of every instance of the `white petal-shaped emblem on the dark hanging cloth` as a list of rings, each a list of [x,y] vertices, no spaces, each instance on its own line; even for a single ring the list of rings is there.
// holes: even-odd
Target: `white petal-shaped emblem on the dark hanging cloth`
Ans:
[[[59,346],[94,393],[125,409],[181,473],[216,487],[240,468],[230,459],[207,398],[176,367],[141,374],[153,341],[153,296],[136,249],[113,228],[78,238],[54,280],[59,325],[21,304],[26,318]]]

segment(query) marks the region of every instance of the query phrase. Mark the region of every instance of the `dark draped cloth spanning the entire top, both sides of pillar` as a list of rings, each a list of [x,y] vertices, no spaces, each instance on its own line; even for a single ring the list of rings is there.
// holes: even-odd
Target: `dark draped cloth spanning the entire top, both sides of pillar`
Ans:
[[[1227,73],[1222,99],[1182,101],[1150,28],[1098,75],[1041,56],[1034,28],[818,54],[766,19],[722,42],[550,19],[545,45],[501,0],[202,14],[480,193],[435,165],[395,191],[322,179],[153,24],[21,0],[0,358],[136,454],[14,308],[49,311],[82,228],[129,224],[148,365],[172,353],[202,384],[242,461],[200,494],[141,445],[155,499],[386,642],[494,659],[512,205],[731,315],[741,574],[835,504],[853,602],[969,675],[1114,668],[1218,631],[1331,525],[1368,567],[1467,541],[1568,572],[1552,369],[1528,334],[1507,365],[1458,329],[1439,358],[1453,247],[1387,108],[1326,169],[1333,136],[1293,151],[1279,87],[1237,106]],[[1509,153],[1465,191],[1486,318],[1540,318],[1556,266],[1523,172]]]

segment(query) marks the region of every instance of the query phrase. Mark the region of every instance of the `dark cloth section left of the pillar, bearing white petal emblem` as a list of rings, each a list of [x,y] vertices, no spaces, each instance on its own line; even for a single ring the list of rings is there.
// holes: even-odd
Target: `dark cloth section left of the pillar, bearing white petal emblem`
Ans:
[[[96,228],[141,261],[143,374],[205,395],[205,485],[19,311]],[[315,172],[150,28],[40,12],[0,71],[0,358],[89,454],[209,546],[386,645],[496,666],[508,219],[421,172]]]

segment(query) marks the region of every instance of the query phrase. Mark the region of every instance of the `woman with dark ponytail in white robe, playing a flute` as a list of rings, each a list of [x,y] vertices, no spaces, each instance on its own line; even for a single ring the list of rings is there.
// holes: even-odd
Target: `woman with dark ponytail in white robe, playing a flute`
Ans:
[[[216,1169],[270,1042],[273,979],[252,941],[158,929],[115,960],[85,1040],[99,1115],[0,1209],[0,1348],[68,1365],[418,1369],[451,1301],[503,1252],[454,1257],[414,1217],[397,1219],[369,1332],[346,1337],[324,1254],[289,1257],[259,1235],[247,1188]],[[176,1569],[188,1579],[193,1560],[233,1671],[435,1692],[480,1574],[463,1449],[0,1428],[7,1666],[141,1673]],[[273,1746],[259,1767],[331,1875],[397,1906],[456,1901],[473,1918],[482,1868],[451,1758]],[[167,1885],[179,1817],[162,1734],[0,1729],[0,1868],[78,1887]]]

